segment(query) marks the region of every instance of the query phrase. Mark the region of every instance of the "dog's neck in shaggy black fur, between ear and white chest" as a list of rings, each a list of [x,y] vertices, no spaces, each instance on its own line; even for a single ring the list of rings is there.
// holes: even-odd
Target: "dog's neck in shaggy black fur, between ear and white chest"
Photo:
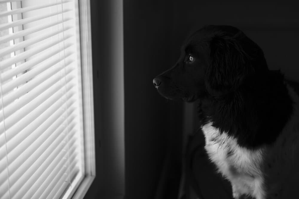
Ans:
[[[198,107],[202,125],[212,122],[252,149],[273,143],[292,114],[292,100],[277,72],[220,97],[206,95]]]

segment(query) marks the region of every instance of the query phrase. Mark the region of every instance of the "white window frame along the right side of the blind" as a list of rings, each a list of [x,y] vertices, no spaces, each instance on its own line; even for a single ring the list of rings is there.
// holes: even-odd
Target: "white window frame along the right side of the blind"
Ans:
[[[96,175],[90,0],[78,0],[83,97],[85,177],[68,198],[84,198]]]

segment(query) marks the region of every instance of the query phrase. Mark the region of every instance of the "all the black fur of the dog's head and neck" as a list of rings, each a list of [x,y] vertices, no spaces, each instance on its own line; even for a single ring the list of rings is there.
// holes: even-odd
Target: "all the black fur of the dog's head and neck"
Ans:
[[[247,148],[273,143],[292,114],[283,75],[269,71],[261,48],[231,26],[196,31],[176,65],[154,83],[166,98],[199,99],[202,123],[211,121]]]

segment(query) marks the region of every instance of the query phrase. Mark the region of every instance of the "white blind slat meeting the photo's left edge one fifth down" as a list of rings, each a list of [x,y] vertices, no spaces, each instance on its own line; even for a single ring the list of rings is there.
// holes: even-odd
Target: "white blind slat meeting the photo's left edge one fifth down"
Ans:
[[[56,22],[50,22],[50,23],[46,23],[44,25],[34,26],[32,28],[28,28],[26,30],[20,30],[16,33],[12,33],[12,34],[9,34],[7,36],[1,36],[0,37],[0,43],[5,43],[5,42],[8,42],[10,40],[17,39],[19,37],[23,37],[23,36],[26,36],[26,35],[29,35],[29,34],[32,34],[32,33],[36,33],[39,30],[44,30],[46,28],[49,28],[49,27],[52,27],[52,26],[55,26],[55,25],[59,25],[63,22],[70,21],[72,19],[73,18],[65,17],[65,18],[63,18],[63,20],[59,19]]]

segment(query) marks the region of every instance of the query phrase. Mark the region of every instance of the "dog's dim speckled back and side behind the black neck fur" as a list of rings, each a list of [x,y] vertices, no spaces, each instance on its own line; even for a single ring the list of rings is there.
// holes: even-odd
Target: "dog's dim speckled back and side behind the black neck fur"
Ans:
[[[293,114],[264,156],[267,198],[299,198],[299,97],[289,86],[288,90],[294,102]]]

